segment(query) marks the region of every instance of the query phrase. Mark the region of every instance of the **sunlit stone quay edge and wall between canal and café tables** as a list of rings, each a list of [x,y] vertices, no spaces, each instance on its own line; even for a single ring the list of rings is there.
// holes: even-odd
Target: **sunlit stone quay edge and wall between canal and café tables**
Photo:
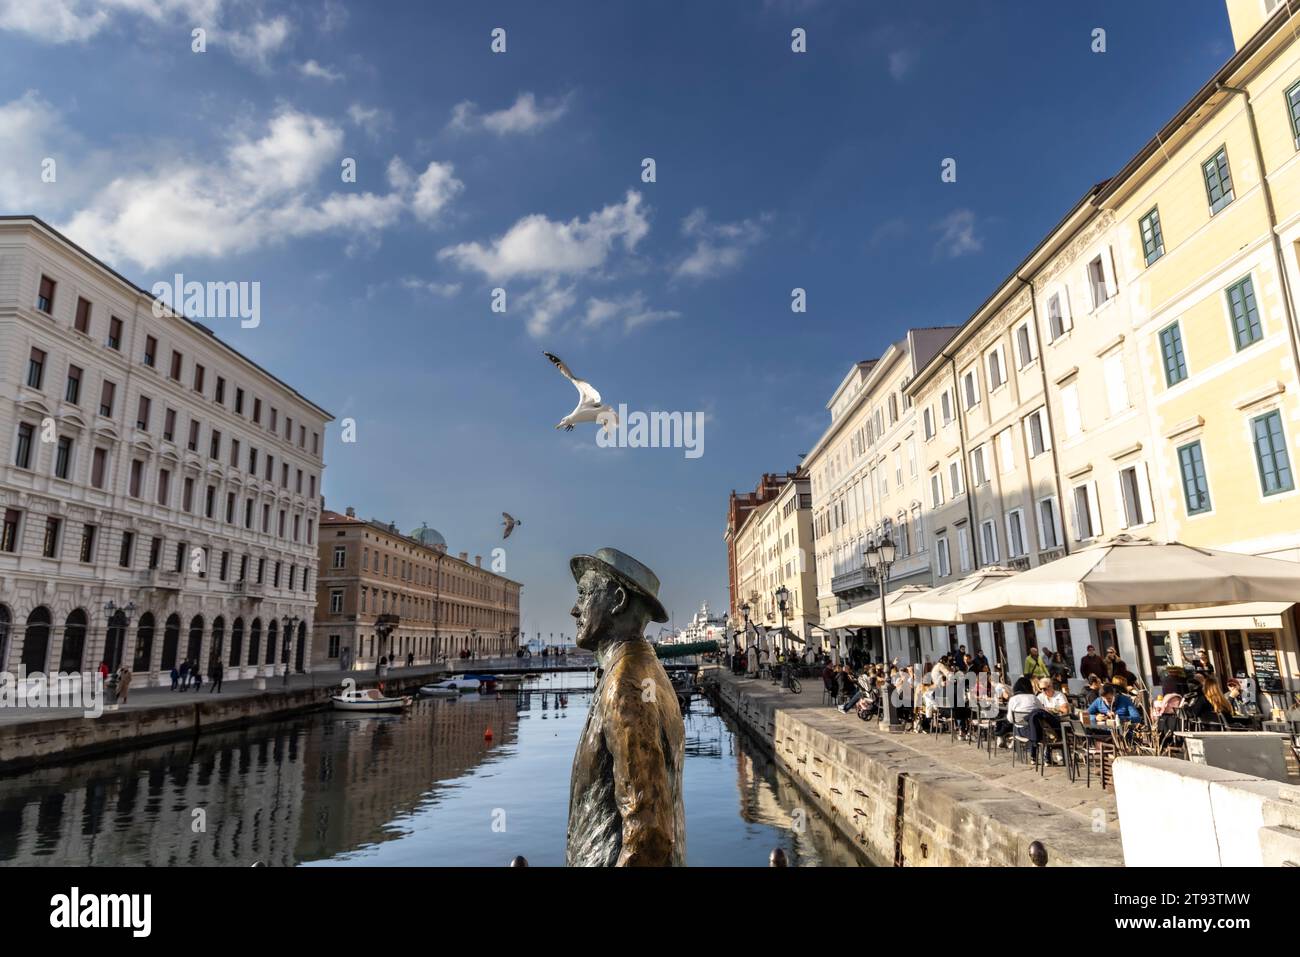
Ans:
[[[1043,841],[1052,865],[1122,866],[1114,791],[1011,766],[1006,750],[948,735],[883,731],[823,703],[807,683],[792,694],[767,680],[716,677],[729,710],[840,830],[885,863],[1027,865]]]

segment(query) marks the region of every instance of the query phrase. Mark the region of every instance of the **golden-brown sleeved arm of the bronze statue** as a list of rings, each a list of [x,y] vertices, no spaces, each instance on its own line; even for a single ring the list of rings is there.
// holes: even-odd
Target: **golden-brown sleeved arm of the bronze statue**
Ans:
[[[634,689],[633,689],[634,688]],[[623,818],[619,867],[662,867],[672,858],[673,804],[658,707],[637,687],[615,689],[604,726],[614,758],[614,797]]]

